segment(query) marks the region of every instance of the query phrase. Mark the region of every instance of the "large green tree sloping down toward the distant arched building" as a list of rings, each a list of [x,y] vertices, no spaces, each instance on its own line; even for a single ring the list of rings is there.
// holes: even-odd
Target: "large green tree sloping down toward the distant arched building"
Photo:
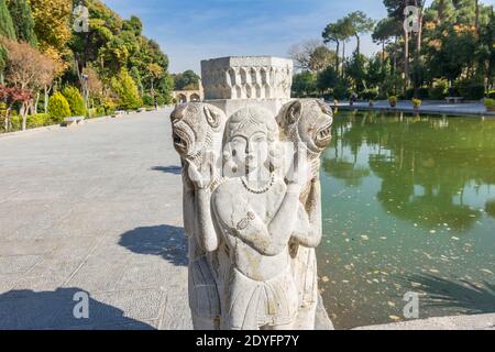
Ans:
[[[156,42],[142,35],[141,20],[136,16],[122,20],[99,0],[88,0],[86,4],[89,33],[75,33],[69,43],[78,66],[91,64],[107,86],[125,69],[138,85],[140,96],[151,94],[152,88],[157,96],[169,95],[163,90],[168,57]],[[150,70],[150,67],[157,69]]]

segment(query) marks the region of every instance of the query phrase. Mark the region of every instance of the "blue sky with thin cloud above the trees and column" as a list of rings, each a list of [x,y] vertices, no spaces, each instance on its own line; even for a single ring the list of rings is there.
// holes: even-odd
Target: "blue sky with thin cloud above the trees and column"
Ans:
[[[329,22],[362,10],[380,20],[382,0],[103,0],[121,16],[136,14],[144,34],[169,56],[172,73],[194,69],[200,61],[231,55],[287,56],[290,45],[318,40]],[[494,0],[485,0],[493,3]],[[349,44],[350,53],[355,46]],[[371,36],[362,51],[378,48]]]

